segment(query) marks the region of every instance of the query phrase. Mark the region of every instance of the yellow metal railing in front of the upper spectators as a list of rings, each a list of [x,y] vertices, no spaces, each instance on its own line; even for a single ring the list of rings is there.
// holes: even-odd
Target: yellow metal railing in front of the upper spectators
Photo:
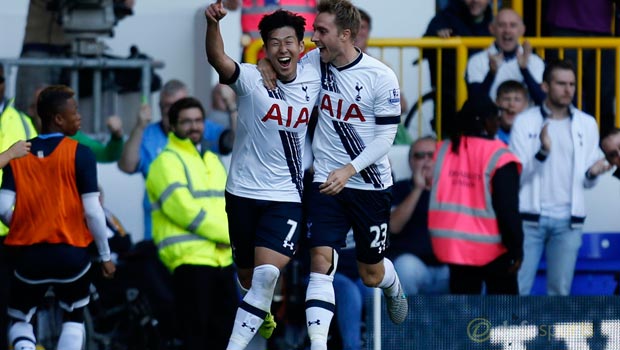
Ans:
[[[513,4],[516,1],[513,0]],[[418,51],[418,60],[422,61],[424,58],[424,50],[436,50],[437,51],[437,85],[436,86],[436,97],[437,100],[436,108],[441,105],[441,97],[442,97],[442,87],[441,87],[441,52],[444,49],[454,49],[456,51],[456,107],[457,109],[462,106],[462,104],[467,99],[467,87],[465,83],[465,71],[467,68],[467,59],[468,59],[468,50],[472,48],[486,48],[492,42],[494,38],[492,37],[484,37],[484,38],[450,38],[450,39],[442,39],[442,38],[419,38],[419,39],[371,39],[368,43],[368,46],[374,48],[375,50],[379,50],[379,57],[383,57],[383,52],[386,49],[397,49],[402,52],[402,50],[417,50]],[[615,81],[616,81],[616,111],[620,111],[620,38],[527,38],[527,40],[532,44],[532,47],[539,50],[541,56],[544,58],[545,50],[553,49],[559,50],[560,57],[564,56],[564,50],[571,49],[577,51],[577,61],[576,62],[576,71],[577,71],[577,91],[576,94],[578,96],[577,107],[582,107],[581,100],[581,91],[583,89],[583,50],[592,49],[595,50],[595,65],[596,65],[596,81],[600,82],[601,72],[603,67],[601,67],[601,50],[604,49],[613,49],[616,51],[616,61],[615,61]],[[402,57],[402,54],[401,54]],[[394,71],[399,75],[399,79],[401,82],[407,77],[402,75],[402,69],[404,67],[404,62],[399,63],[391,63]],[[398,67],[395,67],[398,66]],[[422,66],[418,65],[418,69],[421,70]],[[422,79],[422,75],[418,74],[418,79]],[[418,83],[420,86],[420,83]],[[421,91],[419,89],[418,91]],[[418,113],[422,113],[422,93],[418,92]],[[597,122],[600,124],[600,84],[596,84],[595,90],[595,117],[597,118]],[[437,122],[436,125],[439,127],[441,125],[441,109],[436,109],[436,117]],[[419,118],[421,119],[421,118]],[[620,126],[620,113],[616,114],[615,125]],[[441,135],[440,130],[437,130],[437,133]]]

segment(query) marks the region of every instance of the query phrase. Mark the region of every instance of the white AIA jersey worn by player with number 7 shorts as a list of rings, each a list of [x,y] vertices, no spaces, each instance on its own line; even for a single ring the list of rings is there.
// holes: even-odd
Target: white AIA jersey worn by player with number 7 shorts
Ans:
[[[236,196],[301,202],[304,140],[320,76],[297,65],[297,77],[267,90],[255,65],[238,64],[230,86],[239,109],[226,190]]]

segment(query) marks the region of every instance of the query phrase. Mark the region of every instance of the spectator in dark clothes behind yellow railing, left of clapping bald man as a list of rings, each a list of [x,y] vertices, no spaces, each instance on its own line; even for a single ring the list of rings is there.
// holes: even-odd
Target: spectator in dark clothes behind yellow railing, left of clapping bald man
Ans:
[[[493,20],[493,11],[489,0],[452,0],[445,9],[437,12],[430,21],[425,37],[471,37],[491,36],[489,26]],[[478,50],[470,50],[472,55]],[[441,130],[443,136],[450,134],[454,128],[456,114],[456,55],[452,49],[444,49],[442,66],[437,67],[437,52],[425,50],[424,56],[428,59],[431,84],[437,89],[441,84]],[[441,68],[441,82],[437,82],[437,68]]]

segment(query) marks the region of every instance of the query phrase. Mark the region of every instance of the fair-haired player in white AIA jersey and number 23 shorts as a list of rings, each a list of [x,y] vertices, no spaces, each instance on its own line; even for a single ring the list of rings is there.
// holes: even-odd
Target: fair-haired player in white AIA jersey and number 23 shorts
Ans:
[[[408,311],[398,275],[385,258],[392,198],[387,153],[400,122],[398,80],[385,64],[354,46],[360,14],[350,1],[322,0],[317,9],[312,36],[317,49],[301,60],[321,70],[308,206],[312,262],[306,321],[311,350],[327,349],[338,250],[351,227],[364,284],[383,290],[394,323],[402,323]]]

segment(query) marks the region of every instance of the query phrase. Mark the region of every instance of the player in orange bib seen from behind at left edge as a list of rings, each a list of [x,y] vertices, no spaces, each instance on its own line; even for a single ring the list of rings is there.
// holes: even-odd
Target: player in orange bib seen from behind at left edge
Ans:
[[[37,110],[42,135],[32,139],[30,154],[4,169],[0,218],[11,227],[4,244],[11,250],[14,272],[8,309],[14,349],[35,349],[31,317],[52,285],[63,309],[58,349],[82,349],[91,282],[88,245],[93,238],[103,275],[111,278],[116,269],[99,202],[95,157],[66,137],[80,127],[73,95],[66,86],[41,92]]]

